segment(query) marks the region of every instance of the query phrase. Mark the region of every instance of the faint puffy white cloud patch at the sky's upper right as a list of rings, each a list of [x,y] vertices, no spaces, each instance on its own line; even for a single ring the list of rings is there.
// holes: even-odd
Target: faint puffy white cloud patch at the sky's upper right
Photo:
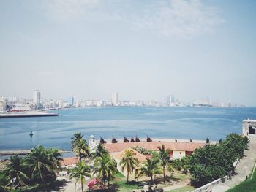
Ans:
[[[170,0],[154,11],[146,10],[134,19],[134,25],[160,37],[195,36],[214,31],[223,23],[219,10],[200,0]]]

